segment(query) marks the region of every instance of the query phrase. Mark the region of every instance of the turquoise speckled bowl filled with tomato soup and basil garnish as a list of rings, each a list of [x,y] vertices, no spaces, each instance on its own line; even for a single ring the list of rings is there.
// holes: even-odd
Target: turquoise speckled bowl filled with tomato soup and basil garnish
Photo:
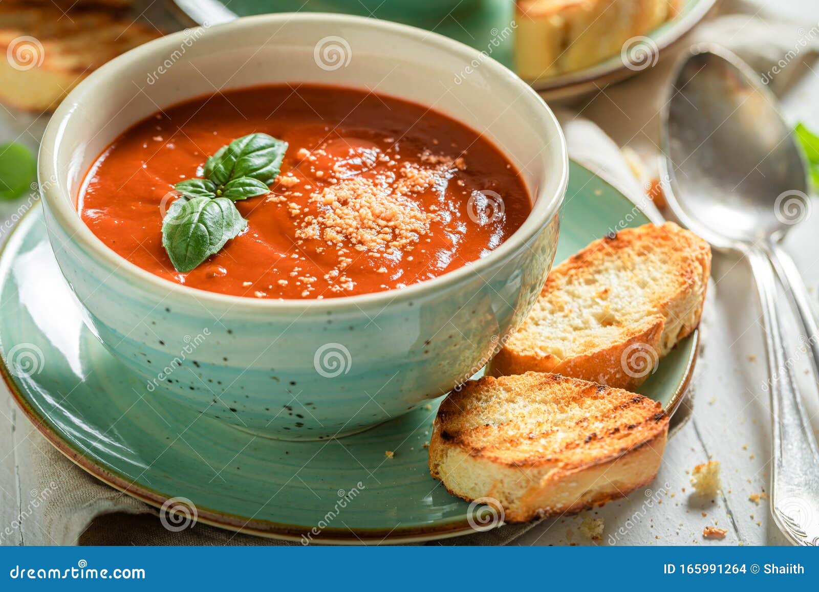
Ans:
[[[144,395],[299,440],[396,418],[495,355],[549,272],[568,160],[486,54],[279,14],[103,66],[38,174],[62,273]]]

